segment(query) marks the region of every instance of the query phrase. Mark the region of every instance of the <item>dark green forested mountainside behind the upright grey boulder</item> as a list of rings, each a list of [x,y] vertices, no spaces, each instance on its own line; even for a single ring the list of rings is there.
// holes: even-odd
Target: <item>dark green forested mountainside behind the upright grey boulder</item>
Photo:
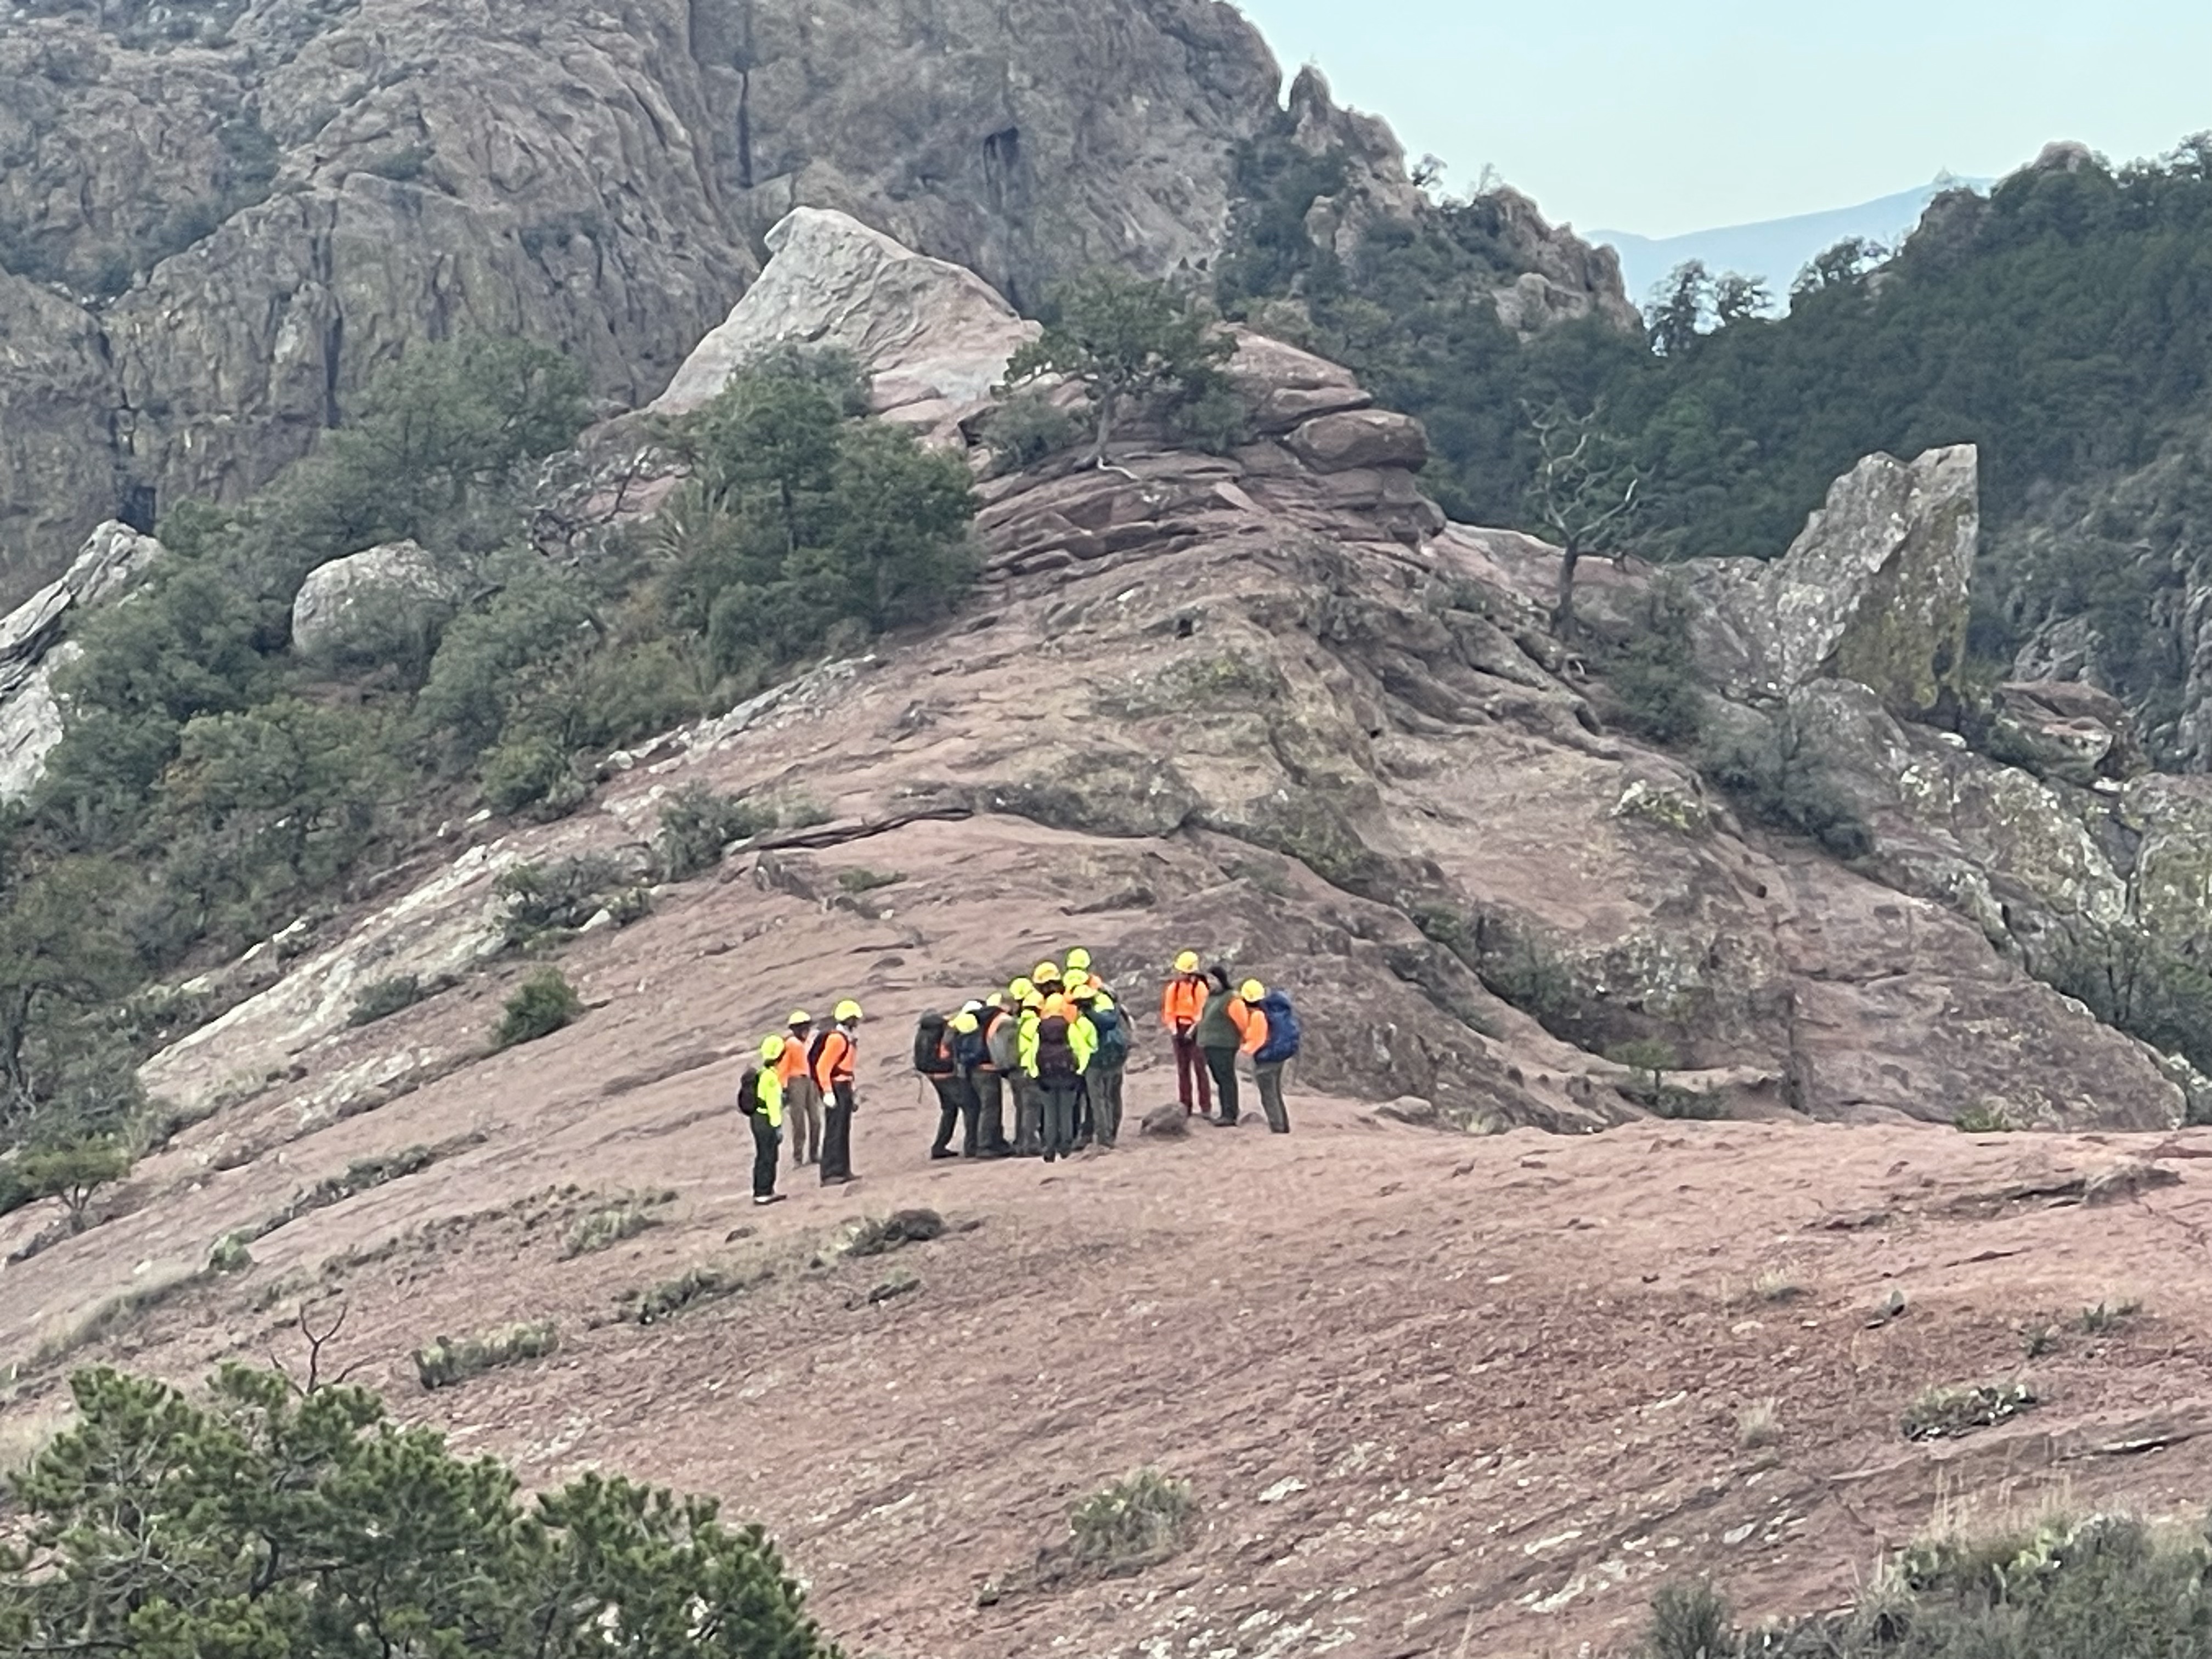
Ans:
[[[1455,241],[1338,261],[1279,234],[1316,181],[1276,164],[1225,294],[1422,416],[1462,518],[1522,522],[1531,414],[1601,407],[1644,480],[1628,540],[1655,557],[1772,557],[1856,456],[1973,442],[1991,529],[1975,650],[2119,692],[2159,763],[2201,770],[2208,157],[2192,142],[2110,168],[2055,146],[1986,199],[1938,199],[1893,259],[1816,261],[1783,319],[1692,283],[1652,316],[1657,352],[1590,323],[1522,341],[1460,303],[1498,199],[1449,212]],[[1303,316],[1270,310],[1285,294]]]

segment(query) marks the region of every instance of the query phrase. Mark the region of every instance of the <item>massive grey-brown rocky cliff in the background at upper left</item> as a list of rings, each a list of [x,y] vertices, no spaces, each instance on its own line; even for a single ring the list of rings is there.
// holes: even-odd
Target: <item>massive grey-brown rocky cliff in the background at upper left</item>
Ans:
[[[1283,124],[1347,150],[1363,215],[1422,210],[1389,131],[1336,111],[1314,75],[1285,113],[1265,44],[1217,0],[40,0],[15,15],[4,597],[100,520],[150,529],[188,495],[237,500],[416,338],[529,334],[615,407],[648,403],[794,206],[854,210],[1024,307],[1093,263],[1206,265],[1234,148]],[[1533,226],[1531,272],[1577,288],[1555,310],[1619,307],[1610,257]]]

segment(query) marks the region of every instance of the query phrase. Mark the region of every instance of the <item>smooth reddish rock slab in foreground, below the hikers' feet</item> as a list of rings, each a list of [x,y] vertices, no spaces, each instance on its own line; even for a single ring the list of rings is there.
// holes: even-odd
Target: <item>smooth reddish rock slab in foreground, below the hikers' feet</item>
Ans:
[[[1287,1139],[1201,1128],[1051,1170],[931,1166],[933,1110],[878,1033],[863,1183],[801,1181],[754,1210],[719,1110],[728,1066],[608,1102],[580,1082],[606,1040],[586,1022],[361,1119],[383,1144],[451,1130],[495,1086],[511,1108],[538,1102],[544,1133],[303,1217],[243,1279],[84,1354],[179,1376],[294,1354],[296,1296],[257,1303],[336,1259],[327,1283],[352,1307],[336,1347],[403,1416],[531,1480],[611,1467],[723,1493],[783,1540],[863,1655],[1411,1657],[1462,1635],[1484,1655],[1604,1650],[1666,1573],[1714,1573],[1754,1613],[1803,1610],[1845,1599],[1940,1502],[2066,1489],[2170,1511],[2208,1489],[2212,1206],[2194,1159],[2212,1135],[1469,1139],[1294,1091]],[[1161,1086],[1141,1071],[1133,1099]],[[2143,1155],[2181,1183],[2073,1197]],[[668,1225],[562,1261],[586,1203],[546,1192],[562,1183],[677,1199]],[[978,1225],[885,1259],[816,1256],[841,1223],[914,1203]],[[708,1261],[768,1276],[666,1323],[599,1323],[622,1290]],[[896,1274],[920,1283],[869,1305]],[[1798,1294],[1765,1294],[1763,1274]],[[1869,1323],[1891,1292],[1905,1312]],[[2022,1325],[2121,1298],[2143,1312],[2024,1358]],[[560,1321],[555,1358],[440,1394],[411,1380],[414,1345],[524,1316]],[[1922,1387],[2013,1374],[2044,1400],[2015,1425],[1900,1438]],[[33,1369],[15,1409],[51,1405],[51,1376]],[[1761,1398],[1781,1442],[1739,1449],[1736,1413]],[[1064,1535],[1077,1498],[1141,1464],[1197,1484],[1186,1553],[978,1606]]]

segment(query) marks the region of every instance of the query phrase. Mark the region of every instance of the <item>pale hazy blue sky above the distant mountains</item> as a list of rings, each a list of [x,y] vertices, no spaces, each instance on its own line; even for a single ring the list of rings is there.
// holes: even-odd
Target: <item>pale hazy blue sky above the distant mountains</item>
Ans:
[[[2046,139],[2115,159],[2212,128],[2205,0],[1237,0],[1285,73],[1389,117],[1467,190],[1668,237],[1840,208]]]

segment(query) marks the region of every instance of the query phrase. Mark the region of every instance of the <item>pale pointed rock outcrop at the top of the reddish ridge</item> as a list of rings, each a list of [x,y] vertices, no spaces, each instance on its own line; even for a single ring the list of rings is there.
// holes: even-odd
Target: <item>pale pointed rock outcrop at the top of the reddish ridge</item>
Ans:
[[[852,215],[799,208],[768,232],[770,261],[728,321],[699,341],[653,403],[688,414],[779,345],[849,352],[878,414],[942,425],[989,398],[1006,358],[1037,336],[975,272],[925,259]]]

